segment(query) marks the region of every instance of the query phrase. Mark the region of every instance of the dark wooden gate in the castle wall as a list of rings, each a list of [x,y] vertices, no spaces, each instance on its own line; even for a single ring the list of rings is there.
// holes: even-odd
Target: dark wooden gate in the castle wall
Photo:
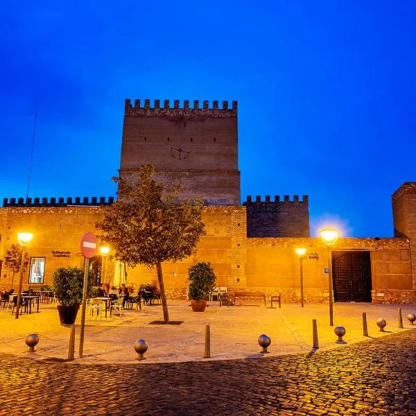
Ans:
[[[332,252],[335,302],[371,302],[370,252]]]

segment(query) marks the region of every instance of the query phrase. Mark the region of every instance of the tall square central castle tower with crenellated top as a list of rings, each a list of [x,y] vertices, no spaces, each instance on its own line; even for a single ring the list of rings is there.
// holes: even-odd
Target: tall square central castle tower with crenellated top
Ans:
[[[182,182],[182,195],[200,196],[205,205],[240,205],[238,167],[237,103],[218,101],[209,108],[204,101],[184,101],[173,107],[168,100],[163,107],[155,100],[139,100],[134,107],[125,100],[121,176],[128,176],[143,164],[156,169],[156,180]]]

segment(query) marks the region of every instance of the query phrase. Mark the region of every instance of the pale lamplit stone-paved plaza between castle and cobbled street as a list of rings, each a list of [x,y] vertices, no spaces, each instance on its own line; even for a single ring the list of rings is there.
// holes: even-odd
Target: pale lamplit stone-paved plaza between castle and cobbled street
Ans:
[[[416,312],[415,305],[401,305],[404,329],[399,329],[397,308],[400,305],[335,304],[334,323],[343,325],[346,345],[406,331],[412,326],[406,314]],[[367,313],[370,338],[363,336],[362,312]],[[123,317],[87,316],[83,358],[78,357],[79,328],[76,329],[75,363],[137,363],[133,349],[135,341],[144,338],[149,344],[144,364],[204,360],[205,326],[211,330],[211,360],[261,358],[257,338],[266,333],[272,339],[270,356],[310,352],[312,349],[312,319],[318,321],[320,349],[340,348],[333,327],[329,327],[327,304],[283,304],[281,309],[264,306],[223,306],[210,302],[204,313],[191,311],[189,302],[169,301],[171,320],[180,325],[151,325],[162,319],[162,307],[144,306],[143,311],[125,311]],[[388,322],[382,333],[377,318]],[[76,324],[80,324],[80,312]],[[30,356],[34,359],[59,359],[68,356],[69,328],[59,323],[55,305],[41,304],[40,313],[21,315],[16,320],[0,309],[0,353]],[[28,354],[24,339],[28,333],[38,333],[36,352]]]

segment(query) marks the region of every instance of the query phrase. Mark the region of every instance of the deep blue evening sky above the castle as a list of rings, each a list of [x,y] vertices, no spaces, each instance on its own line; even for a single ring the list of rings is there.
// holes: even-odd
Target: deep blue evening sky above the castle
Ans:
[[[29,196],[110,196],[125,98],[237,100],[243,201],[309,194],[313,234],[392,236],[391,194],[416,180],[415,46],[405,0],[9,2],[0,198],[26,196],[36,110]]]

